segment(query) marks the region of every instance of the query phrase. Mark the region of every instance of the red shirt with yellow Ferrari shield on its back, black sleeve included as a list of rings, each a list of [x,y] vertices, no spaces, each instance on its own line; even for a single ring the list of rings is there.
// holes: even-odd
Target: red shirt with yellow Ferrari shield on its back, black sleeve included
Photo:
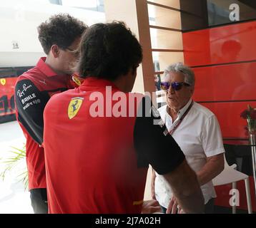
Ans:
[[[151,123],[149,129],[144,118],[136,117],[142,95],[134,103],[129,95],[110,81],[87,78],[79,88],[49,100],[44,110],[49,213],[140,213],[148,164],[166,173],[184,160],[176,145],[174,164],[162,154],[174,140],[148,138],[147,132],[154,137],[157,128],[157,135],[167,139],[163,128]]]

